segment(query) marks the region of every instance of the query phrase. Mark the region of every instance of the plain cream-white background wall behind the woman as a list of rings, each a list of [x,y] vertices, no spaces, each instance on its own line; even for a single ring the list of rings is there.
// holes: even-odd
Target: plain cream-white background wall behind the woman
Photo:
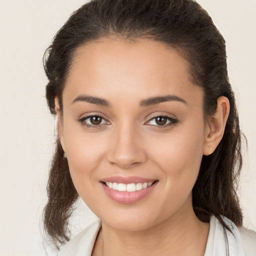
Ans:
[[[41,238],[54,119],[42,55],[84,0],[0,0],[0,255],[55,255]],[[256,0],[198,0],[226,39],[228,70],[248,139],[240,182],[244,226],[256,230]],[[77,204],[73,233],[95,216]]]

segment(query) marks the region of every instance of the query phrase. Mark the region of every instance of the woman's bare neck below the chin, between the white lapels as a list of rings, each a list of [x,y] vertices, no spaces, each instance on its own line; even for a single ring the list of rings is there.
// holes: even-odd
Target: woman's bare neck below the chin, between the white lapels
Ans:
[[[92,255],[203,256],[208,231],[209,224],[198,220],[192,207],[139,231],[118,230],[102,221]]]

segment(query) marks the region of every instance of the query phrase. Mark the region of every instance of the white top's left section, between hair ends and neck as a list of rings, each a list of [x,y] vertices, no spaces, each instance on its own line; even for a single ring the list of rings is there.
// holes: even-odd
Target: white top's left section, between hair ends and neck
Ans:
[[[101,221],[99,219],[91,223],[63,245],[58,256],[90,255],[100,226]]]

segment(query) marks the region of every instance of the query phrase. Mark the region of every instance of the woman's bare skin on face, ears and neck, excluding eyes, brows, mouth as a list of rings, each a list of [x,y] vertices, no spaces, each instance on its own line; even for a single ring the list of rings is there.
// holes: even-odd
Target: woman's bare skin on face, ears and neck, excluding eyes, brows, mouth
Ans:
[[[104,98],[110,107],[77,100]],[[143,99],[175,95],[185,101],[139,106]],[[192,187],[202,155],[214,151],[229,113],[220,97],[211,118],[203,117],[203,91],[192,83],[187,62],[160,42],[102,39],[80,46],[57,98],[58,133],[74,186],[102,220],[92,255],[203,255],[209,224],[197,219]],[[96,127],[90,118],[104,119]],[[159,125],[155,116],[177,120]],[[79,121],[78,119],[83,120]],[[170,125],[167,125],[170,124]],[[161,126],[161,127],[159,127]],[[100,180],[140,176],[158,180],[143,199],[110,199]]]

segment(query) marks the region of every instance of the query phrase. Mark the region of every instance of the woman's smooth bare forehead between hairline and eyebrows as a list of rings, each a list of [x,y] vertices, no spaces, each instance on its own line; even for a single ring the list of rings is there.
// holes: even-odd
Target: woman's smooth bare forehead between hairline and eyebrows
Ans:
[[[174,49],[150,39],[107,38],[75,52],[63,97],[68,95],[70,101],[82,93],[140,100],[166,94],[191,97],[201,92],[192,83],[188,63]]]

